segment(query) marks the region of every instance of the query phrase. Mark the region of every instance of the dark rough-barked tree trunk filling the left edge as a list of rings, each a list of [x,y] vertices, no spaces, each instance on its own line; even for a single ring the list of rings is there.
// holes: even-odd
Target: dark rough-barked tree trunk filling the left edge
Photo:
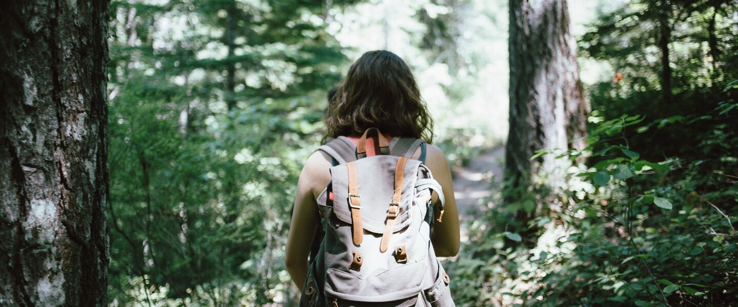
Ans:
[[[107,1],[0,10],[0,306],[106,306]]]

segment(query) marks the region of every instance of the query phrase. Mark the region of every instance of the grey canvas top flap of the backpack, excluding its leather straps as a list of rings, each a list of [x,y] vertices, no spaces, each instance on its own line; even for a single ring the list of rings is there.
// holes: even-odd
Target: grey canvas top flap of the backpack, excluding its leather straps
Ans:
[[[364,230],[376,235],[384,233],[390,202],[393,202],[395,191],[395,169],[399,157],[376,155],[356,160],[356,183],[359,197],[352,197],[354,204],[360,202],[361,225]],[[397,216],[392,232],[395,233],[410,225],[418,160],[406,160],[402,178],[401,197],[398,202]],[[334,193],[334,214],[342,222],[352,224],[351,206],[349,205],[348,166],[341,164],[331,167],[331,178]],[[394,209],[393,209],[394,211]]]

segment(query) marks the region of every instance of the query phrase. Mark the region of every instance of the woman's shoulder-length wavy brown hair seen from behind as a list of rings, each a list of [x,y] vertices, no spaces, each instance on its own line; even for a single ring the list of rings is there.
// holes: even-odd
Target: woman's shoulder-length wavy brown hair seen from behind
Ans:
[[[348,68],[346,79],[323,114],[323,141],[361,135],[370,127],[387,135],[433,141],[433,120],[405,62],[392,52],[367,52]]]

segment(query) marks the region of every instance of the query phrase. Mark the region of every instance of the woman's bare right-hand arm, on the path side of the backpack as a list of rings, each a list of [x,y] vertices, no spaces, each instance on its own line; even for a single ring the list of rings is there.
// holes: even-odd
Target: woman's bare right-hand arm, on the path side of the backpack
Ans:
[[[417,152],[420,155],[420,152]],[[435,221],[431,232],[430,240],[435,249],[435,255],[439,257],[454,256],[459,252],[459,215],[456,208],[456,198],[454,197],[454,185],[451,177],[451,169],[449,163],[446,162],[446,155],[440,148],[428,145],[426,154],[426,166],[432,172],[433,177],[441,188],[444,190],[446,204],[444,206],[444,216],[441,222]],[[435,197],[434,197],[435,198]],[[438,216],[438,206],[435,207]]]

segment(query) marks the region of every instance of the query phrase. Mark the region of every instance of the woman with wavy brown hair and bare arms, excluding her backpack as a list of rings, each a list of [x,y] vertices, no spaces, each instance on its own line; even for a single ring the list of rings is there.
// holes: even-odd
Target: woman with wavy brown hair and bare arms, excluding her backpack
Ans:
[[[367,52],[356,60],[328,103],[323,122],[324,141],[344,135],[356,143],[370,127],[379,128],[388,137],[432,141],[432,119],[413,74],[400,57],[387,51]],[[420,156],[418,148],[413,158]],[[317,197],[331,180],[332,165],[328,154],[314,152],[297,183],[285,262],[292,281],[300,289],[308,274],[308,253],[314,233],[320,225]],[[432,145],[427,146],[425,165],[441,184],[446,198],[442,222],[433,225],[431,241],[436,255],[453,256],[459,249],[459,224],[451,171],[444,152]]]

